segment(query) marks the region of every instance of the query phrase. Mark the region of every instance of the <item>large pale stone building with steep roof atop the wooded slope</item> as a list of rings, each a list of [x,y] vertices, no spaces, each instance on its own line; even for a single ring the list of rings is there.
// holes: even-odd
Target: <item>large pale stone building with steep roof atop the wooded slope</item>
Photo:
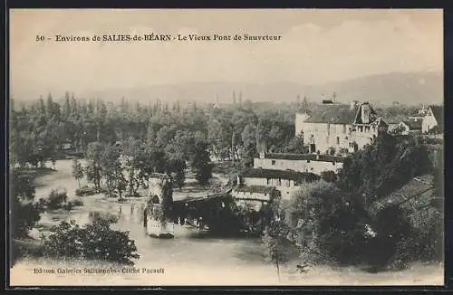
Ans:
[[[329,149],[354,152],[387,128],[369,102],[323,103],[312,111],[296,114],[295,118],[296,135],[302,135],[310,152],[317,154]]]

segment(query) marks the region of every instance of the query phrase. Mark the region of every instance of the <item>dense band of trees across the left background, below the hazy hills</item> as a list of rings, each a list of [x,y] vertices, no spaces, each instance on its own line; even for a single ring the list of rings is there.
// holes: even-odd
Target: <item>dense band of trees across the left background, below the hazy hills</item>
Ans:
[[[294,108],[273,108],[259,103],[243,103],[217,108],[196,102],[171,106],[156,100],[148,105],[121,100],[84,100],[67,92],[63,99],[51,94],[17,106],[11,100],[10,158],[20,167],[40,167],[58,158],[65,144],[87,153],[92,142],[112,144],[139,140],[163,150],[170,157],[187,157],[193,139],[202,138],[209,153],[219,160],[239,160],[250,164],[262,148],[296,151]],[[292,110],[293,109],[293,110]]]

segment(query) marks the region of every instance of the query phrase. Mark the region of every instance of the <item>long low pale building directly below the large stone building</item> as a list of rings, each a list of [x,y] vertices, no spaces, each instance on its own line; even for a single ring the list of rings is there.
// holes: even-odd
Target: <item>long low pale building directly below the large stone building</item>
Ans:
[[[338,172],[342,168],[343,157],[332,155],[265,154],[254,159],[254,168],[293,170],[321,174],[323,171]]]

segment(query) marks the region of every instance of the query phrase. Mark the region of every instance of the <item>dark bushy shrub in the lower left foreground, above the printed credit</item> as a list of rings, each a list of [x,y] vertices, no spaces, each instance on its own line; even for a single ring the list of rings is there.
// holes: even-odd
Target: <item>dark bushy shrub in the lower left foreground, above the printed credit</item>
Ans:
[[[50,257],[101,260],[132,265],[140,257],[128,232],[114,231],[111,222],[102,218],[83,227],[63,222],[43,238],[43,254]]]

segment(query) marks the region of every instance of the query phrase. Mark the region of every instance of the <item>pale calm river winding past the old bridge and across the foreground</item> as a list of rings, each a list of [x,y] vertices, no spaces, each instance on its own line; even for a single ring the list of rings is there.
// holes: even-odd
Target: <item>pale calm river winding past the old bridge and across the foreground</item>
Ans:
[[[51,189],[65,187],[73,198],[77,182],[71,175],[70,160],[57,161],[58,172],[38,179],[36,196],[48,195]],[[133,269],[121,269],[106,262],[48,261],[27,259],[11,270],[12,285],[430,285],[443,284],[441,265],[415,264],[410,270],[368,273],[356,267],[315,267],[306,273],[295,271],[297,261],[282,267],[280,277],[274,265],[262,258],[262,246],[255,238],[217,238],[207,233],[175,225],[174,239],[156,239],[145,234],[140,217],[130,215],[130,205],[120,205],[101,195],[82,198],[84,205],[71,214],[43,214],[43,226],[73,219],[80,224],[88,221],[90,211],[118,213],[122,218],[115,228],[130,232],[140,259]],[[37,236],[38,233],[35,233]],[[119,273],[83,273],[84,269],[108,269]],[[39,274],[43,268],[80,273]],[[157,273],[154,270],[160,270]],[[163,273],[162,273],[163,271]]]

